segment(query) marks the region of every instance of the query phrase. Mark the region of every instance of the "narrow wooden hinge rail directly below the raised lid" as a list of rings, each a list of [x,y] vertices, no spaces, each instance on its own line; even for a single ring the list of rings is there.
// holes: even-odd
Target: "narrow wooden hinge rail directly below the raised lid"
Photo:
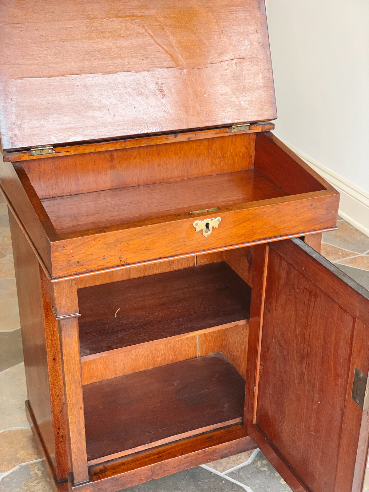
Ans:
[[[249,130],[237,130],[237,135],[255,133],[258,131],[274,130],[274,123],[252,123]],[[211,130],[197,130],[190,132],[163,133],[161,135],[150,135],[148,137],[131,137],[124,140],[113,140],[110,142],[98,142],[93,144],[79,144],[74,146],[56,146],[52,154],[32,154],[31,151],[10,152],[4,154],[5,162],[16,162],[22,160],[44,159],[45,157],[60,157],[61,155],[90,154],[92,152],[111,151],[118,149],[129,149],[131,147],[144,147],[145,145],[168,144],[171,142],[184,142],[188,140],[202,140],[203,138],[217,138],[232,135],[231,126],[214,128]]]

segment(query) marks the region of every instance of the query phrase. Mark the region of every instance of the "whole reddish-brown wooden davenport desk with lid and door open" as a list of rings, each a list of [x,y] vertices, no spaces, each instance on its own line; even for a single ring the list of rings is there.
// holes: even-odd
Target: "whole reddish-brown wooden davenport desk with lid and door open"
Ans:
[[[361,491],[369,292],[318,252],[337,191],[270,132],[264,1],[8,0],[1,21],[0,185],[54,490],[259,447],[296,492]]]

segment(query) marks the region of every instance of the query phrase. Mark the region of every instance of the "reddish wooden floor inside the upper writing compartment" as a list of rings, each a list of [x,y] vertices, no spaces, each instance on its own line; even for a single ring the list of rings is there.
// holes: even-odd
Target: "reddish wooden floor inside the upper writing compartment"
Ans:
[[[248,169],[41,201],[56,231],[62,234],[287,195],[258,171]]]

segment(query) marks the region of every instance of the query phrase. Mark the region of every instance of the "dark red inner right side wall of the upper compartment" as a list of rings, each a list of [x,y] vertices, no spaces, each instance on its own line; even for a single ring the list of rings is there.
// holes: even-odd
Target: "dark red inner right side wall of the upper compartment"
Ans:
[[[278,185],[282,184],[291,195],[328,189],[339,196],[333,186],[270,131],[256,135],[254,168]]]

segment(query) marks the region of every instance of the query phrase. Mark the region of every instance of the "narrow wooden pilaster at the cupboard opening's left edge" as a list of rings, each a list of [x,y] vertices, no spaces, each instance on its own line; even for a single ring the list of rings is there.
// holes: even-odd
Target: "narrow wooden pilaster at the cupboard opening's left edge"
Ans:
[[[77,288],[74,280],[53,285],[53,303],[57,316],[78,312]],[[85,419],[83,413],[81,359],[77,318],[59,321],[62,349],[62,372],[70,465],[75,484],[89,480],[86,455]]]

